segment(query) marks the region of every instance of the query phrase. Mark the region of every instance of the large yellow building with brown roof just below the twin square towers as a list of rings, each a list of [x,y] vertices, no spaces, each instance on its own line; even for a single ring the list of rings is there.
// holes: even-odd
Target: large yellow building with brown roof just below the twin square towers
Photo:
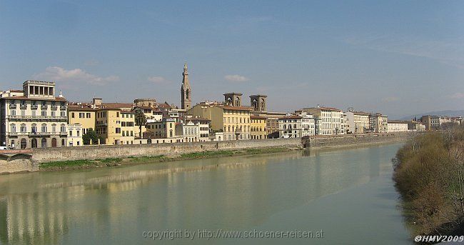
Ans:
[[[224,106],[216,103],[201,103],[193,106],[188,114],[211,120],[213,131],[223,131],[224,140],[251,139],[250,113],[248,106]]]

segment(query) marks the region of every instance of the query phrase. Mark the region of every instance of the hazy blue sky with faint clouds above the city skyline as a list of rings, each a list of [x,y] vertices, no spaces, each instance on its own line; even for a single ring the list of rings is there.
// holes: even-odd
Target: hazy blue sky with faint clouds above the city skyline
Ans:
[[[193,104],[464,109],[464,1],[0,1],[0,90],[180,106],[184,61]]]

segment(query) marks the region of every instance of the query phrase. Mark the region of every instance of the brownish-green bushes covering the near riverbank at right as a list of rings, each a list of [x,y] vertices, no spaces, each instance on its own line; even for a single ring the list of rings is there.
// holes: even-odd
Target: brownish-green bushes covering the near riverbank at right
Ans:
[[[457,235],[464,222],[464,127],[420,134],[398,150],[395,186],[415,235]]]

